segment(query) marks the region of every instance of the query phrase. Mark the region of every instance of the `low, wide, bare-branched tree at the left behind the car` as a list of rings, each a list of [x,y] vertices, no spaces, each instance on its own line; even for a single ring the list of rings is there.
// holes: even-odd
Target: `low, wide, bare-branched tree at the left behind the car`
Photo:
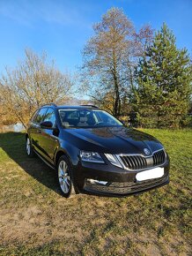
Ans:
[[[14,70],[5,69],[0,80],[0,109],[24,126],[34,109],[48,102],[64,102],[70,97],[74,82],[69,73],[48,63],[46,53],[38,56],[30,49]]]

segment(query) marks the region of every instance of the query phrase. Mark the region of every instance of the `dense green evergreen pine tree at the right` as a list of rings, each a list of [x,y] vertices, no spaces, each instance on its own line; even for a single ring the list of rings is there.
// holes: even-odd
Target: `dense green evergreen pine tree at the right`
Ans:
[[[189,108],[192,72],[187,49],[177,49],[164,24],[136,71],[137,120],[145,127],[178,127]]]

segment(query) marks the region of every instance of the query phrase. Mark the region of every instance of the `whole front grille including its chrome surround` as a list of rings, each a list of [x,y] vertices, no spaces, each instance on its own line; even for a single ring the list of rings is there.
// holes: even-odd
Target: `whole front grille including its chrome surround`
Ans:
[[[151,155],[144,154],[115,154],[123,169],[139,171],[160,167],[166,163],[166,152],[164,148],[154,151]]]

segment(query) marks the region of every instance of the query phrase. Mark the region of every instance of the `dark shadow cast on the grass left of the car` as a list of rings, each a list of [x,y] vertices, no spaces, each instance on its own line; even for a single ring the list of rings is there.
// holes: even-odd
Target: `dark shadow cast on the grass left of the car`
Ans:
[[[3,148],[10,159],[16,162],[35,180],[61,195],[57,184],[55,170],[48,168],[38,156],[29,158],[26,155],[25,142],[25,133],[23,132],[0,133],[0,147]],[[2,161],[4,162],[4,159],[2,159]]]

